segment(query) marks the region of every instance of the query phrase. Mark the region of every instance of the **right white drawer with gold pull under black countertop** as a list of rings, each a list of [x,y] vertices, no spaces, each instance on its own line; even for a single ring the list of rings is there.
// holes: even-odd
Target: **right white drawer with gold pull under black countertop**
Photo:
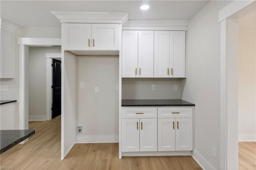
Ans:
[[[192,118],[192,107],[158,108],[158,118]]]

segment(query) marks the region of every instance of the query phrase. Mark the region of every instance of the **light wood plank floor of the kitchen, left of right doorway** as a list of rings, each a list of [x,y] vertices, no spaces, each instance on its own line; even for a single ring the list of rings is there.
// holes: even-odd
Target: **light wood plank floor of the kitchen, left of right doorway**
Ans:
[[[0,155],[0,166],[15,170],[201,170],[191,156],[142,156],[118,158],[118,143],[75,144],[60,160],[60,116],[52,121],[32,121],[36,133]]]

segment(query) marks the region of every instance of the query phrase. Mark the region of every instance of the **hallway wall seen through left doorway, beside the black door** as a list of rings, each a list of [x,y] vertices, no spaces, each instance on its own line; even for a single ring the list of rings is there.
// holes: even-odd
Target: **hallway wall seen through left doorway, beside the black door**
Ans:
[[[46,120],[46,53],[61,53],[61,47],[29,47],[29,120]]]

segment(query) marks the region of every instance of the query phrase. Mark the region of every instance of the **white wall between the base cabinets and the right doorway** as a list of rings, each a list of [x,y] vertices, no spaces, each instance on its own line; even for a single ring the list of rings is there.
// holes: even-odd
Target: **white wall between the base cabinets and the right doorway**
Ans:
[[[205,169],[220,169],[220,23],[230,1],[211,1],[188,25],[187,79],[181,99],[195,104],[193,156]],[[186,83],[185,83],[186,81]],[[216,159],[212,157],[216,148]]]

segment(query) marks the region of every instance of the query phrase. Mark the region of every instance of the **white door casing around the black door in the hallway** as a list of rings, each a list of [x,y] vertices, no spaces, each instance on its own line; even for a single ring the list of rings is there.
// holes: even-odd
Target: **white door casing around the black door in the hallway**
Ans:
[[[61,59],[61,53],[46,53],[46,120],[52,119],[52,59]]]

